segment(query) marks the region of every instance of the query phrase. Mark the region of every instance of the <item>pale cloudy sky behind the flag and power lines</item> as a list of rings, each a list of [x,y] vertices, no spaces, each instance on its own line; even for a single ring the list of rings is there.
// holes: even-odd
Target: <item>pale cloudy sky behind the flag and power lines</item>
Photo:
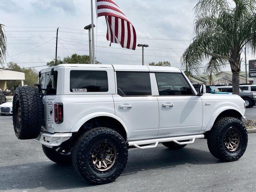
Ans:
[[[180,56],[193,38],[193,7],[197,0],[115,0],[137,33],[137,44],[145,48],[145,64],[169,61],[181,68]],[[142,50],[128,50],[106,40],[106,21],[96,18],[96,60],[102,64],[142,64]],[[6,63],[45,68],[55,58],[56,29],[58,57],[89,54],[90,0],[0,0],[0,23],[5,25]],[[248,59],[253,56],[248,54]],[[42,67],[38,67],[42,66]],[[224,70],[230,70],[229,67]],[[242,64],[242,70],[244,65]]]

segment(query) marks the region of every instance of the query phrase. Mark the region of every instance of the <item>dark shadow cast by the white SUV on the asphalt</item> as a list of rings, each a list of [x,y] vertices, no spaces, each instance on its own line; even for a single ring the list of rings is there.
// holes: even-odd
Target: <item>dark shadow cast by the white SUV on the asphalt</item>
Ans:
[[[171,169],[184,164],[221,163],[208,151],[194,148],[169,150],[157,147],[148,150],[129,151],[128,164],[122,176],[154,169]],[[189,166],[189,165],[187,165]],[[92,186],[74,171],[72,166],[61,166],[52,162],[35,162],[0,167],[0,190],[22,190],[43,187],[62,190]],[[10,179],[11,178],[11,179]]]

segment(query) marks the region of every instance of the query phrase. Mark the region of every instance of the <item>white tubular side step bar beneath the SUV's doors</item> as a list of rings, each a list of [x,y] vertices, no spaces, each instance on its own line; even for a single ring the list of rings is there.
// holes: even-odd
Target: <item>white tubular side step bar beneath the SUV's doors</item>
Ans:
[[[200,135],[189,135],[189,136],[179,136],[179,137],[167,137],[167,138],[136,140],[136,141],[129,141],[128,144],[129,144],[129,146],[134,146],[134,147],[137,147],[139,149],[149,149],[149,148],[155,148],[158,145],[158,143],[173,141],[173,142],[175,142],[179,145],[184,145],[184,144],[194,143],[195,139],[202,139],[202,138],[204,138],[204,135],[200,134]],[[192,140],[192,141],[179,142],[179,141],[182,141],[182,140]],[[154,145],[140,146],[140,145],[148,145],[148,144],[154,144]]]

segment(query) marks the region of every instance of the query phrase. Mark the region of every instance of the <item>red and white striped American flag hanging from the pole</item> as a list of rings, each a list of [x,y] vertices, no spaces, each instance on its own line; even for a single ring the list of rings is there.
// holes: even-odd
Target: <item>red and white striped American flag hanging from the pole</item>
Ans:
[[[106,18],[107,40],[119,43],[123,48],[135,50],[135,28],[114,0],[96,0],[96,11],[97,17]]]

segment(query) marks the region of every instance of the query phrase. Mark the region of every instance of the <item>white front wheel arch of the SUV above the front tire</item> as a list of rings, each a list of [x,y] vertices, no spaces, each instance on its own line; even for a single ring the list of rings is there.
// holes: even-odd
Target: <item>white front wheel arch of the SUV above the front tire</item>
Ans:
[[[235,118],[242,118],[244,115],[234,107],[229,107],[229,108],[220,108],[214,112],[212,115],[212,118],[209,120],[208,125],[206,127],[205,131],[211,130],[212,126],[218,120],[220,117],[235,117]]]

